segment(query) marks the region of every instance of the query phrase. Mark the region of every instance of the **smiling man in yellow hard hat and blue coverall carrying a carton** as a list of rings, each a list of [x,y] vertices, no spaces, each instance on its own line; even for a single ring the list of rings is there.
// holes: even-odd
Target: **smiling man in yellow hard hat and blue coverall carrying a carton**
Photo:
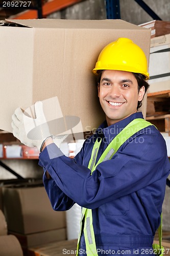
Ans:
[[[53,208],[67,210],[75,202],[83,207],[79,255],[154,255],[170,166],[163,137],[137,112],[149,87],[147,59],[133,41],[119,38],[102,50],[93,73],[106,121],[74,159],[61,154],[63,138],[56,146],[47,128],[41,140],[23,135],[20,109],[13,115],[13,134],[40,148]],[[39,105],[37,120],[43,116]]]

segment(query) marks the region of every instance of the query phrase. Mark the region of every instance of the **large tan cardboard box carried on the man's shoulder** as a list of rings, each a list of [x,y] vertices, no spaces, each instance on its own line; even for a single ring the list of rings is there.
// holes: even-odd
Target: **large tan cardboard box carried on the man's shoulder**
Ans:
[[[37,100],[49,99],[48,113],[55,115],[51,104],[54,96],[58,97],[60,117],[78,117],[71,124],[78,126],[75,133],[82,132],[77,125],[80,120],[83,131],[91,131],[105,119],[92,73],[101,50],[118,37],[128,37],[143,49],[149,62],[150,29],[123,20],[26,19],[1,23],[6,25],[0,26],[0,80],[4,84],[0,129],[5,131],[12,131],[11,116],[16,108],[26,109]]]

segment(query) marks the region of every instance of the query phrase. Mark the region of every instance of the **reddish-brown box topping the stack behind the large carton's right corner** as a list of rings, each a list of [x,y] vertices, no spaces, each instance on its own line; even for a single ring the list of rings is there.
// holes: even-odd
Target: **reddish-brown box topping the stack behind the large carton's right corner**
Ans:
[[[151,20],[151,22],[140,24],[143,28],[151,29],[151,38],[170,33],[170,22],[164,20]]]

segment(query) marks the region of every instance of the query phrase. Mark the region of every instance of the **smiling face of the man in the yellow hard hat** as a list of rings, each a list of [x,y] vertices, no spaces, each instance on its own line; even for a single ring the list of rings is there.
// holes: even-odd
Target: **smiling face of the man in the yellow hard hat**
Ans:
[[[144,86],[138,92],[137,80],[131,72],[105,70],[98,86],[98,96],[109,126],[137,112],[137,103],[144,96]]]

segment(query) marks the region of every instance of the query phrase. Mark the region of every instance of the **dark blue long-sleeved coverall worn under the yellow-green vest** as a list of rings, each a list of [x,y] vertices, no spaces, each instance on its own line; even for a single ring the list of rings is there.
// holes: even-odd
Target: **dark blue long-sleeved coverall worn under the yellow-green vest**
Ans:
[[[92,209],[98,255],[154,255],[152,244],[170,172],[160,132],[154,125],[148,126],[128,139],[111,160],[100,163],[92,175],[87,168],[96,138],[103,138],[98,161],[110,141],[135,118],[143,118],[142,113],[110,126],[104,122],[74,159],[61,156],[54,143],[39,156],[53,209],[68,210],[75,202]],[[46,170],[52,177],[49,180]],[[84,251],[82,232],[79,254],[85,255]]]

